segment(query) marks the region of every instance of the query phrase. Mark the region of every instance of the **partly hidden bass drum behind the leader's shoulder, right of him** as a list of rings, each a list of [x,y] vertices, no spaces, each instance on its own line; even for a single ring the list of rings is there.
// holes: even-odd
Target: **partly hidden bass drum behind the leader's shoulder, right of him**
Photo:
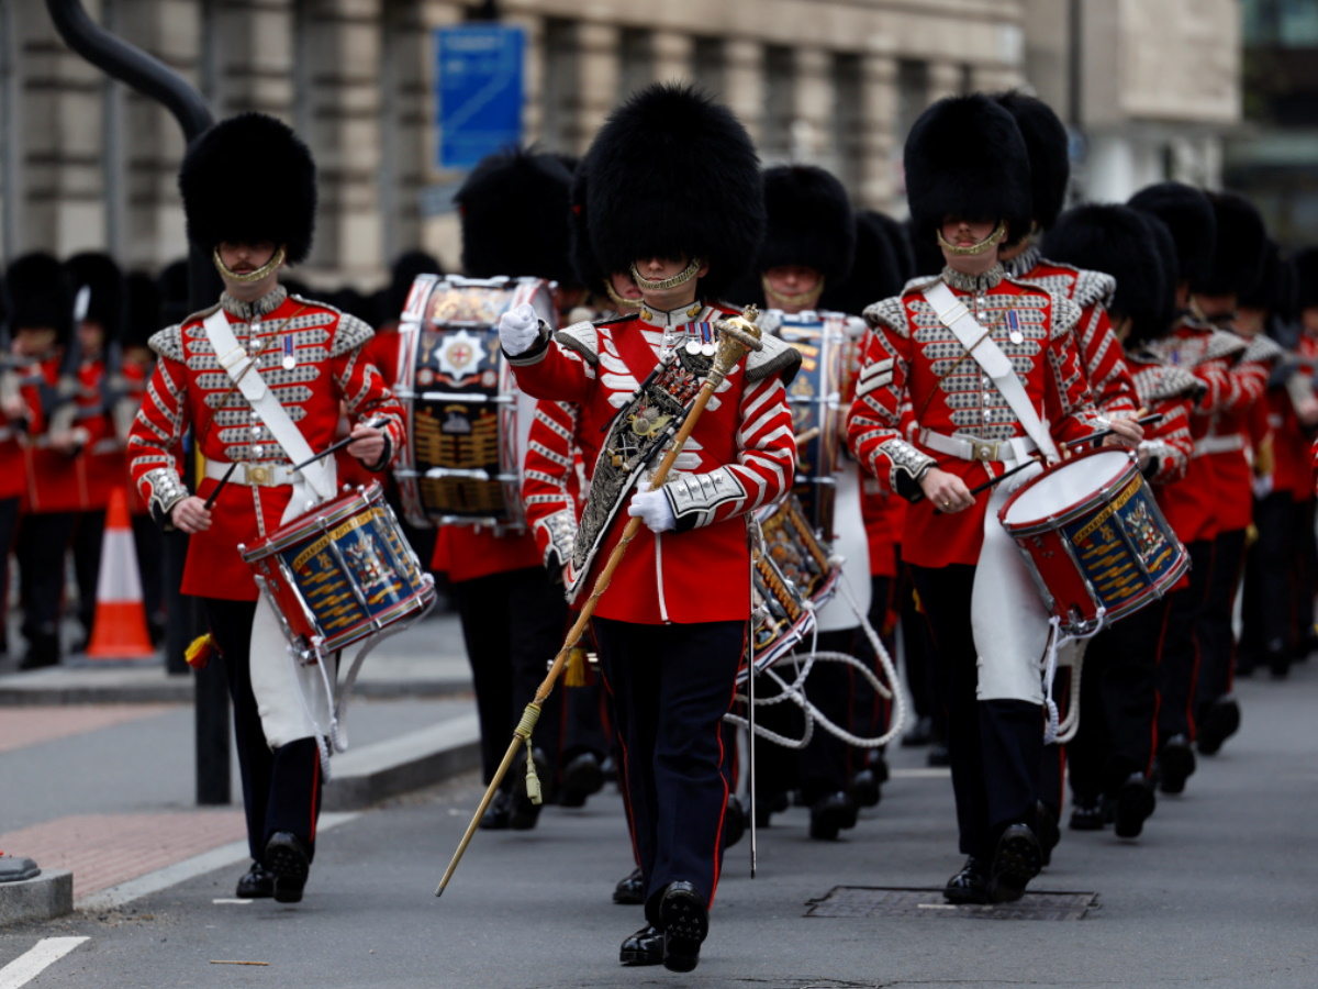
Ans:
[[[796,455],[792,492],[815,531],[833,533],[836,473],[841,444],[842,389],[846,380],[847,318],[840,313],[782,315],[779,336],[801,355],[801,368],[787,388],[792,431],[818,430]]]

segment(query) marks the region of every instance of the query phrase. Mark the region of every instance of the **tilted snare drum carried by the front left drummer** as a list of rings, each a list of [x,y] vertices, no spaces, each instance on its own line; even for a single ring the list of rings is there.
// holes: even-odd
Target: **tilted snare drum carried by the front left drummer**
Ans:
[[[423,613],[435,579],[385,504],[378,483],[349,491],[248,549],[239,546],[302,653],[333,651]]]

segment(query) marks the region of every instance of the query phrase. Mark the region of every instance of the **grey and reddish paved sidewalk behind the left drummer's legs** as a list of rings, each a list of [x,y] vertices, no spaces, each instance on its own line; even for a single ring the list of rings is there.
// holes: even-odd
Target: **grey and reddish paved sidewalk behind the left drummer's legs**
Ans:
[[[386,640],[368,657],[343,727],[323,827],[478,760],[471,671],[456,616]],[[0,851],[70,869],[87,902],[144,876],[248,860],[231,749],[228,807],[195,804],[191,675],[163,662],[100,666],[83,657],[0,675]],[[190,874],[190,873],[187,873]]]

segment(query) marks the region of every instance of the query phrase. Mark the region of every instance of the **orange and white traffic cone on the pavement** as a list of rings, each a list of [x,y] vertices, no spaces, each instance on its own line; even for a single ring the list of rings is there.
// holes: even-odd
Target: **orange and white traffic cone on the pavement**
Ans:
[[[140,659],[156,655],[146,632],[142,582],[137,572],[133,526],[123,488],[109,493],[105,538],[96,580],[96,624],[87,655],[92,659]]]

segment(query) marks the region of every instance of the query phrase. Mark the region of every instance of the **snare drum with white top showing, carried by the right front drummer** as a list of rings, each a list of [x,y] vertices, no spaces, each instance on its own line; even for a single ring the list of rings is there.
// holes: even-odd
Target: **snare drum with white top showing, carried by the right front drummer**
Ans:
[[[1085,634],[1170,591],[1190,556],[1123,450],[1094,450],[1039,475],[998,513],[1064,632]]]

